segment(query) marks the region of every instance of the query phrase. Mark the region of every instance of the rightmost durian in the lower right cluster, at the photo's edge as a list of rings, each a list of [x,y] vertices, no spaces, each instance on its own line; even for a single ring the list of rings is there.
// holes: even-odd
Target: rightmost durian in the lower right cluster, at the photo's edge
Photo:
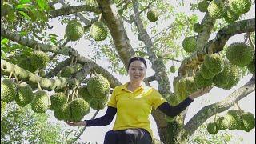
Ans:
[[[242,130],[250,132],[255,127],[254,114],[250,112],[245,112],[242,114]]]

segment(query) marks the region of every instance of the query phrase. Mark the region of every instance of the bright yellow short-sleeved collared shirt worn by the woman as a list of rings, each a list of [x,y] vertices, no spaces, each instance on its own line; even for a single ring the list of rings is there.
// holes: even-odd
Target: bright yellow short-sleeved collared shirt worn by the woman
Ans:
[[[127,90],[128,83],[115,87],[108,102],[108,106],[117,108],[113,130],[142,128],[150,132],[153,138],[149,119],[152,106],[156,109],[166,102],[166,99],[162,98],[158,90],[146,86],[144,82],[134,92]]]

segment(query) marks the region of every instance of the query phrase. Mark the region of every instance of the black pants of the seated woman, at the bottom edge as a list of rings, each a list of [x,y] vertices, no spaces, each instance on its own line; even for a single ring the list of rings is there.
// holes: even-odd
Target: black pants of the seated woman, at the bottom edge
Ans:
[[[150,133],[144,129],[110,130],[104,144],[152,144]]]

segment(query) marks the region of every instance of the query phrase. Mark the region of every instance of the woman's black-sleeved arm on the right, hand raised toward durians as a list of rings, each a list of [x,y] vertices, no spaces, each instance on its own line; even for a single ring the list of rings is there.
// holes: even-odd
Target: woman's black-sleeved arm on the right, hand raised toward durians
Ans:
[[[177,106],[171,106],[168,102],[162,103],[158,106],[158,110],[161,110],[162,113],[170,116],[175,117],[176,115],[180,114],[183,110],[186,109],[187,106],[190,105],[191,102],[194,102],[194,98],[198,98],[202,94],[206,94],[210,91],[210,87],[206,87],[205,89],[200,89],[192,94],[184,101],[180,102]]]

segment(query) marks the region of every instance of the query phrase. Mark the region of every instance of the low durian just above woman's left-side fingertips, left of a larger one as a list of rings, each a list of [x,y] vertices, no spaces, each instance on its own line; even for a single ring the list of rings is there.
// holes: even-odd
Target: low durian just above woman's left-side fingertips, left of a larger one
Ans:
[[[54,117],[58,120],[71,120],[70,103],[63,104],[58,109],[54,110]]]

